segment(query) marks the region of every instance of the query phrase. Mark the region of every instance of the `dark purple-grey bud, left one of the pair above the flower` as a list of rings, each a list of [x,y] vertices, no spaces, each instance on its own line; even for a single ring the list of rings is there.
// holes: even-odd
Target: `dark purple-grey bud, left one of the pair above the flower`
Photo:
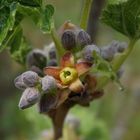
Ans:
[[[71,50],[76,46],[76,36],[74,31],[66,30],[61,37],[62,45],[66,50]]]

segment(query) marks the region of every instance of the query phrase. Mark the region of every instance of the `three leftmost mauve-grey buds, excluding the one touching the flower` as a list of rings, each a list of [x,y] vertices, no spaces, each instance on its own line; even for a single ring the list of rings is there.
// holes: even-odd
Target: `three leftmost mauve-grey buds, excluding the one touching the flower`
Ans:
[[[24,90],[19,102],[19,108],[30,107],[40,99],[39,90],[36,88],[39,80],[38,74],[33,71],[24,72],[15,79],[15,86]]]

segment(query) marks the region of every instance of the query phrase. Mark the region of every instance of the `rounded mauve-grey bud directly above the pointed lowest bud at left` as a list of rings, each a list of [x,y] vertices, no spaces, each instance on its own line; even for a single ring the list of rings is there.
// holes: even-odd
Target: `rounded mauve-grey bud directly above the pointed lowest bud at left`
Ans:
[[[27,87],[34,87],[39,81],[39,76],[36,72],[27,71],[22,75],[22,80]]]

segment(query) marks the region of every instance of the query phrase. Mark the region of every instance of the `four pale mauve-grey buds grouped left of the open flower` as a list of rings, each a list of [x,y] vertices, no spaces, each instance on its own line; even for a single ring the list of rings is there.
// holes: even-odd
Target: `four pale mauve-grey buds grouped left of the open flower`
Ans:
[[[43,94],[56,91],[56,82],[53,77],[39,77],[36,72],[26,71],[19,75],[15,81],[15,86],[23,90],[19,101],[19,108],[25,109],[39,102]]]

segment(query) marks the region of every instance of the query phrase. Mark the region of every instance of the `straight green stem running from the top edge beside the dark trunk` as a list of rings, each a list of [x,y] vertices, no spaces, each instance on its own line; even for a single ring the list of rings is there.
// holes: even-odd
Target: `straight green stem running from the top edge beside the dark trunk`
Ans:
[[[84,30],[86,30],[87,28],[91,3],[92,3],[92,0],[84,0],[84,7],[83,7],[82,17],[81,17],[81,22],[80,22],[80,27],[83,28]]]

